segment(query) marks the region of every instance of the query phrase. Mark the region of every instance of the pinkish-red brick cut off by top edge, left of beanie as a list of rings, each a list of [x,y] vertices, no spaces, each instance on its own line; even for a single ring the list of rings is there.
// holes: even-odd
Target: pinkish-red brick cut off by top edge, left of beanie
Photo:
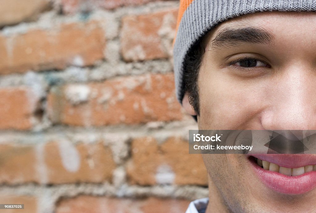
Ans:
[[[89,11],[94,8],[116,9],[122,6],[140,5],[157,0],[62,0],[61,6],[66,14]]]

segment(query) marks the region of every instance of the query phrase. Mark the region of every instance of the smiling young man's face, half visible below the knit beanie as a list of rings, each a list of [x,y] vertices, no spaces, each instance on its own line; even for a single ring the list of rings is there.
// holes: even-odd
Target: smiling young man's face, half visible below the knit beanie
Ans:
[[[199,129],[316,130],[315,32],[313,12],[243,15],[212,30],[199,70]],[[288,168],[316,164],[316,155],[277,156],[270,161]],[[209,211],[316,209],[316,172],[286,176],[258,171],[247,155],[203,158],[210,180]]]

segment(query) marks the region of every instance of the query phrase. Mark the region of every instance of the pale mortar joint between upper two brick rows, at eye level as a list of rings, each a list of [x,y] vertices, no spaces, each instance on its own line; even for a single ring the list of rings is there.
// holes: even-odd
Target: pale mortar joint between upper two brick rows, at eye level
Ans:
[[[70,66],[63,71],[45,71],[34,72],[29,71],[23,74],[9,74],[0,77],[0,88],[10,86],[32,85],[32,81],[28,81],[32,73],[32,78],[37,79],[36,88],[40,94],[44,94],[43,90],[49,89],[49,86],[64,85],[68,83],[88,83],[103,82],[105,80],[117,77],[137,76],[148,73],[167,74],[172,72],[172,64],[168,60],[151,60],[144,62],[119,63],[112,66],[110,63],[102,62],[93,68]],[[46,94],[46,93],[45,93]]]

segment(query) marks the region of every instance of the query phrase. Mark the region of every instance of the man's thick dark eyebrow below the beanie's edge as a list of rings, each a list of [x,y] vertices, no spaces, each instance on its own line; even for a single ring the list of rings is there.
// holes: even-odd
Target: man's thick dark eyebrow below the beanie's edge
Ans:
[[[210,42],[210,47],[239,46],[240,43],[273,43],[273,35],[263,28],[225,27],[220,30],[215,38]]]

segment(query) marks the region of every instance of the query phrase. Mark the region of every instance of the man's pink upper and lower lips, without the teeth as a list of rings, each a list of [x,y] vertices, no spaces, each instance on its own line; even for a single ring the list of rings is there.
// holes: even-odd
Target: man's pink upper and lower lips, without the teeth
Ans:
[[[309,154],[256,154],[252,156],[287,168],[299,168],[316,164],[316,155]],[[252,167],[259,179],[276,192],[302,194],[316,187],[316,171],[299,176],[286,176],[279,172],[265,170],[253,161]]]

